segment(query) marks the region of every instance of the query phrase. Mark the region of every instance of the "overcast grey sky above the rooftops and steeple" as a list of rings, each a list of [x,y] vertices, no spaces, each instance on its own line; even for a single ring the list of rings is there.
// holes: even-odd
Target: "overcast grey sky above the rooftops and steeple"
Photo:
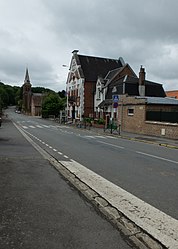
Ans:
[[[65,90],[72,51],[123,57],[178,89],[177,0],[0,0],[0,81]]]

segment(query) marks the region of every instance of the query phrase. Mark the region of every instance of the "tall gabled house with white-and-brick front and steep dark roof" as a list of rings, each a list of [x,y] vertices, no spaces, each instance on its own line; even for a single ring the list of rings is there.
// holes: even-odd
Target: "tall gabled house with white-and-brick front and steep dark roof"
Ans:
[[[98,77],[125,65],[123,59],[109,59],[78,54],[73,51],[66,84],[67,111],[72,119],[94,117],[94,95]]]

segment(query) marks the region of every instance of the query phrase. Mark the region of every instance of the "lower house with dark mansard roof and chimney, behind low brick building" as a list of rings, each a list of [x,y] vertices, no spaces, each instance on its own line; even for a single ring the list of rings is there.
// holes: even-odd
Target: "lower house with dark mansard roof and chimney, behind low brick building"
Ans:
[[[139,77],[132,68],[126,64],[108,79],[98,79],[95,94],[96,116],[110,117],[117,119],[118,113],[113,107],[113,96],[150,96],[165,97],[162,84],[151,82],[145,79],[145,69],[140,68]],[[116,105],[117,106],[117,105]]]

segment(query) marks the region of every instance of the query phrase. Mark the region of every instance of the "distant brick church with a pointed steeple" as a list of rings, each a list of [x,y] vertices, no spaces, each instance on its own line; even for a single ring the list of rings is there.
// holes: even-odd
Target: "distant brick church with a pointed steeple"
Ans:
[[[22,86],[23,88],[22,112],[27,115],[41,116],[42,94],[32,93],[31,87],[32,85],[30,83],[28,68],[26,68],[25,80]]]

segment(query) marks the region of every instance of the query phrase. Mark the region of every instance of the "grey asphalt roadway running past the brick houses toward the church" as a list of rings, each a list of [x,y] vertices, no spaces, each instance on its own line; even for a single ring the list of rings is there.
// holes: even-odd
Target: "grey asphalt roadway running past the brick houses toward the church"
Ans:
[[[178,219],[177,150],[97,135],[39,118],[10,115],[58,160],[75,160]]]

